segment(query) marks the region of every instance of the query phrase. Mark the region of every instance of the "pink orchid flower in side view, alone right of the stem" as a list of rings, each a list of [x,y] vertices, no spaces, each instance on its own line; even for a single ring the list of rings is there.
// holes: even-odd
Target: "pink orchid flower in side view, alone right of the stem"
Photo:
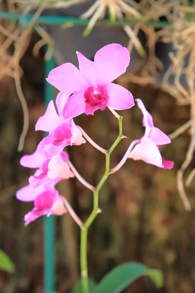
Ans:
[[[174,162],[165,160],[159,151],[159,146],[171,143],[170,138],[164,132],[154,126],[152,116],[146,110],[143,102],[140,99],[137,99],[136,102],[143,113],[142,122],[143,126],[145,126],[145,134],[129,153],[128,158],[142,160],[148,164],[152,164],[164,169],[173,168]]]

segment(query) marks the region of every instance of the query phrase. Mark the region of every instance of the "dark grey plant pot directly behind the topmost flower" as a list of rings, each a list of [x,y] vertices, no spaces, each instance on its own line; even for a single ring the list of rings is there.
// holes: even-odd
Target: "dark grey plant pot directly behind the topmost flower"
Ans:
[[[79,17],[92,3],[84,2],[68,9],[46,9],[43,14]],[[84,28],[85,26],[82,25],[74,25],[67,29],[62,29],[60,25],[44,25],[44,29],[55,42],[55,58],[58,65],[71,62],[78,66],[76,51],[93,60],[98,49],[109,43],[119,43],[125,47],[128,45],[129,38],[121,27],[96,26],[88,37],[82,37]],[[140,32],[138,37],[144,46],[146,42],[144,34]],[[127,72],[137,72],[145,62],[146,58],[140,57],[137,51],[133,49]]]

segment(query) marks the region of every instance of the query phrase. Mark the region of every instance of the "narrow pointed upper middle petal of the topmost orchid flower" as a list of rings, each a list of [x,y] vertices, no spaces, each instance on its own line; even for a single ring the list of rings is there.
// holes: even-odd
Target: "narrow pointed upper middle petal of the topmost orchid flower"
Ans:
[[[77,57],[80,72],[82,72],[82,74],[91,84],[93,84],[94,86],[97,85],[95,63],[87,59],[80,52],[77,52]]]

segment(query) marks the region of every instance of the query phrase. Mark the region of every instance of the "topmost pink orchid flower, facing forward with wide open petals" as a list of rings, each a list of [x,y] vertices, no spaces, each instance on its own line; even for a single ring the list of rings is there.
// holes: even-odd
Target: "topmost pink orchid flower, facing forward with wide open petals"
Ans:
[[[53,69],[47,78],[60,92],[65,93],[64,119],[81,113],[94,114],[98,109],[110,107],[116,110],[134,106],[132,94],[112,82],[125,73],[130,62],[127,48],[119,44],[104,46],[95,55],[94,62],[77,52],[79,70],[72,63],[64,63]]]

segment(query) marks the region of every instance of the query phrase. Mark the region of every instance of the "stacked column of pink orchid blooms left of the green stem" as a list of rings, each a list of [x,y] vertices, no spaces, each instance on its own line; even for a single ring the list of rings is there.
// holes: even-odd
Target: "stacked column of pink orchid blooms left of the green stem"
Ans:
[[[74,177],[68,165],[69,156],[63,151],[65,146],[81,145],[86,141],[73,119],[65,120],[62,115],[64,94],[56,99],[58,114],[51,101],[45,114],[39,118],[35,129],[48,131],[49,135],[39,143],[36,151],[20,159],[24,167],[38,168],[29,177],[29,185],[17,191],[16,197],[22,201],[34,201],[34,209],[24,216],[27,224],[39,216],[47,214],[62,215],[66,212],[64,198],[59,195],[55,185],[63,179]]]

